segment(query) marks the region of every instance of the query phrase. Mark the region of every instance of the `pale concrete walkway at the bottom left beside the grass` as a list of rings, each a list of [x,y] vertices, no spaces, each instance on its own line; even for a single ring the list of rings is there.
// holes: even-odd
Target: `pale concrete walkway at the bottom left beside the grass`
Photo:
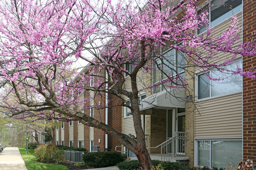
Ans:
[[[0,170],[27,170],[17,147],[6,147],[0,153]]]

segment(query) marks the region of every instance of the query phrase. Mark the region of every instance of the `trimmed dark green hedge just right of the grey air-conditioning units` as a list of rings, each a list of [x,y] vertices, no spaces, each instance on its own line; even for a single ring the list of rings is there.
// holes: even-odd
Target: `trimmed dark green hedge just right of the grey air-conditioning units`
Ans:
[[[87,152],[83,154],[85,165],[95,168],[114,166],[122,161],[124,161],[124,157],[119,152]]]

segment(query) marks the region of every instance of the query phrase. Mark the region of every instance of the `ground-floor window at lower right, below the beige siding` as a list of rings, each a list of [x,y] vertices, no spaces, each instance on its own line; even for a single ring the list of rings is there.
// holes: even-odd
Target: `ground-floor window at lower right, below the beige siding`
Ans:
[[[242,140],[214,139],[197,141],[197,166],[220,168],[229,162],[238,165],[238,160],[242,158]]]

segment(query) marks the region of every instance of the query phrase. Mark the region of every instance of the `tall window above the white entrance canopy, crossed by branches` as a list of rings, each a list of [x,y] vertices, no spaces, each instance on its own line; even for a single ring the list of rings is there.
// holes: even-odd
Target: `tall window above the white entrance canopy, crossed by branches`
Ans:
[[[162,60],[163,61],[159,59],[156,63],[156,65],[158,65],[160,69],[158,69],[158,67],[155,66],[156,68],[154,69],[153,83],[158,83],[164,79],[167,79],[166,75],[168,75],[169,77],[176,77],[176,73],[180,73],[180,77],[185,78],[185,71],[184,69],[182,69],[185,66],[185,57],[182,52],[177,51],[175,49],[171,49],[163,54]],[[159,91],[163,91],[162,85],[156,86],[154,88],[155,93]]]

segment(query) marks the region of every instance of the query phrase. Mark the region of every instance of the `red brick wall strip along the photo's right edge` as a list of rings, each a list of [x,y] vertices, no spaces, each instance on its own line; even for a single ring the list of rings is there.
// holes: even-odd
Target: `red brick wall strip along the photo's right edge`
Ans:
[[[256,3],[243,0],[243,42],[256,29]],[[243,56],[243,69],[256,66],[256,56]],[[256,164],[256,79],[243,77],[243,159]],[[250,165],[251,163],[249,163]],[[252,169],[250,166],[248,169]]]

